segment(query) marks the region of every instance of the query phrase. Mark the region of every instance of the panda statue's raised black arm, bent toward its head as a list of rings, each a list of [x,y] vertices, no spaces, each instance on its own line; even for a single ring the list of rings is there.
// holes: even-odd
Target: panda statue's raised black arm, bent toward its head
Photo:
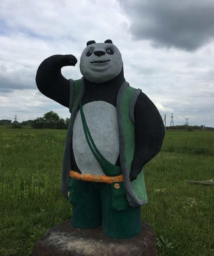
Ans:
[[[45,59],[36,73],[36,85],[45,96],[69,107],[69,80],[62,76],[61,68],[75,66],[73,55],[53,55]]]

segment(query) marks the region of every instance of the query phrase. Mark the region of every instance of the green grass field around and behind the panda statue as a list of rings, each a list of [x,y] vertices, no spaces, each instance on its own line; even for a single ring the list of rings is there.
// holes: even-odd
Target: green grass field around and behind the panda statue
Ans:
[[[0,255],[30,255],[45,233],[72,216],[60,180],[65,130],[0,128]],[[142,220],[161,256],[214,256],[214,132],[166,132],[145,167]]]

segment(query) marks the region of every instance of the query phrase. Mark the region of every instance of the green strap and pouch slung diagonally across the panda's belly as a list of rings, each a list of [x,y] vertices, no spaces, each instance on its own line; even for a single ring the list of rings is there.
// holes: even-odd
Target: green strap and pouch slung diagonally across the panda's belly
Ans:
[[[82,119],[82,125],[85,133],[85,138],[87,140],[87,143],[94,154],[94,157],[97,159],[98,163],[100,164],[103,172],[107,176],[117,176],[121,174],[121,168],[119,166],[116,166],[112,163],[110,163],[98,150],[96,147],[93,138],[91,137],[91,133],[88,129],[87,122],[85,120],[85,115],[82,108],[82,101],[80,102],[80,114]]]

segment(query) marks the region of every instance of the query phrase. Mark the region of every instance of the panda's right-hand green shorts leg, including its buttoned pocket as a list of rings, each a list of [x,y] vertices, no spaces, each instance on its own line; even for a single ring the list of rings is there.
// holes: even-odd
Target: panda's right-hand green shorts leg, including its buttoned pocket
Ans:
[[[123,183],[100,183],[102,230],[114,239],[129,239],[140,233],[140,207],[130,207]]]

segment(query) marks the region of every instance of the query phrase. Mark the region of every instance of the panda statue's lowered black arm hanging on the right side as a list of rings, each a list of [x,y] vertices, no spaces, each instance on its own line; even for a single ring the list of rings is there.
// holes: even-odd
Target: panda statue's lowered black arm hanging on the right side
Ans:
[[[130,170],[130,180],[137,175],[153,157],[158,154],[163,143],[165,129],[156,106],[140,93],[134,106],[135,150]]]

